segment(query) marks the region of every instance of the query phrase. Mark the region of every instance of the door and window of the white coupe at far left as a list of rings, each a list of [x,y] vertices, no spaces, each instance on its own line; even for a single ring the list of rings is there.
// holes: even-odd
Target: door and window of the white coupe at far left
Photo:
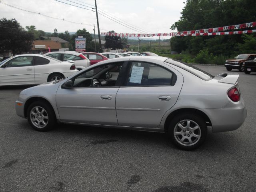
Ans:
[[[0,67],[0,84],[34,84],[33,56],[19,56],[8,60]]]

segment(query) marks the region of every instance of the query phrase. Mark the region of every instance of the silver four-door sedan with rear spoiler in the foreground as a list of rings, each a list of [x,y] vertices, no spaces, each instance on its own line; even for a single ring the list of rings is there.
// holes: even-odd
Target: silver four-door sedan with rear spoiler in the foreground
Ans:
[[[192,150],[208,126],[224,132],[243,124],[237,80],[160,56],[115,58],[23,90],[16,113],[38,131],[60,122],[166,132],[176,146]]]

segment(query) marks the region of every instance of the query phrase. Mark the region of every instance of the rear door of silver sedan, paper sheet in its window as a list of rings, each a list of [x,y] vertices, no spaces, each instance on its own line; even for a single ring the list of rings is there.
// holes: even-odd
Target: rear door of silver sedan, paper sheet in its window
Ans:
[[[118,125],[155,128],[174,106],[182,88],[182,75],[166,65],[131,61],[126,81],[116,95]]]

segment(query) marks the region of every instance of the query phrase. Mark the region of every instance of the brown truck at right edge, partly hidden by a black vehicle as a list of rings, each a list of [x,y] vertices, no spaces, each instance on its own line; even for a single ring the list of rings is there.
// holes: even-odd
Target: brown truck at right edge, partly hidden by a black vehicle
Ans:
[[[226,60],[224,66],[228,71],[231,71],[232,69],[238,69],[240,72],[243,72],[243,62],[247,60],[253,60],[254,58],[256,58],[256,54],[240,54],[236,56],[234,59]]]

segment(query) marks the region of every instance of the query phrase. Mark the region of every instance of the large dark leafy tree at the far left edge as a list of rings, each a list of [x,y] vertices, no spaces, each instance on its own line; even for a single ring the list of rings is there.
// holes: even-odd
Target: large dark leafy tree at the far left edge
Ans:
[[[0,20],[0,53],[11,51],[12,54],[29,52],[32,48],[34,35],[24,30],[16,19]]]

